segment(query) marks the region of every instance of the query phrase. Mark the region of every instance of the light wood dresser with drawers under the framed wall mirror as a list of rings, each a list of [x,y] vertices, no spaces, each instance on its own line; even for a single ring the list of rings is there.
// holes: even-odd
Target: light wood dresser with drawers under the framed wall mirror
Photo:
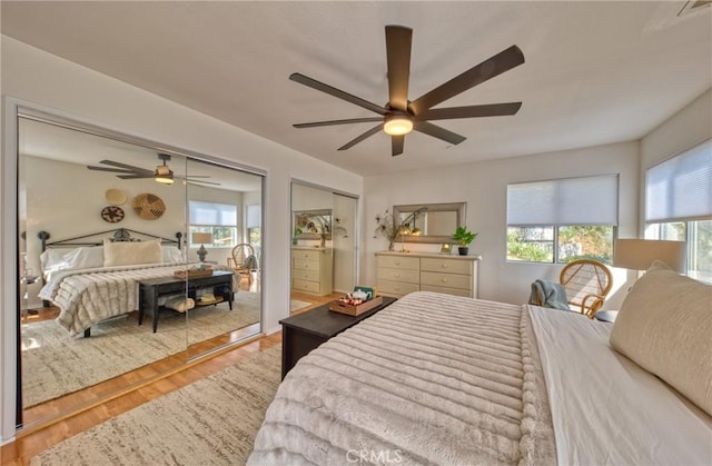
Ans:
[[[479,256],[376,252],[378,294],[399,298],[413,291],[477,297]]]

